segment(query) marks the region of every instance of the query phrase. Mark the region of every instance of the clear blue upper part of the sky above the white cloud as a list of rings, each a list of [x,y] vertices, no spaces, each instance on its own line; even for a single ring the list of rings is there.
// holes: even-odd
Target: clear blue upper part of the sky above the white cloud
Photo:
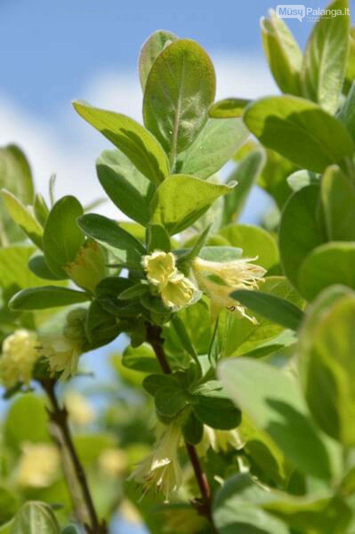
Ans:
[[[30,111],[55,113],[98,70],[134,69],[142,41],[159,28],[215,54],[261,56],[258,20],[270,6],[276,2],[0,0],[0,91]],[[290,22],[303,43],[309,24]]]

